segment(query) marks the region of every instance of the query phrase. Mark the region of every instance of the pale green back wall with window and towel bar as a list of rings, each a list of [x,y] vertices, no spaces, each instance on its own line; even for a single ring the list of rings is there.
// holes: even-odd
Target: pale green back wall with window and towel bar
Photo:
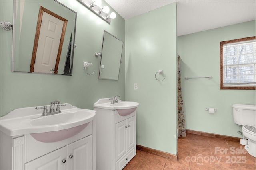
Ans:
[[[241,137],[232,104],[255,105],[255,90],[220,90],[220,41],[255,36],[255,21],[178,37],[186,129]],[[213,79],[190,79],[206,77]],[[215,114],[205,108],[214,107]]]

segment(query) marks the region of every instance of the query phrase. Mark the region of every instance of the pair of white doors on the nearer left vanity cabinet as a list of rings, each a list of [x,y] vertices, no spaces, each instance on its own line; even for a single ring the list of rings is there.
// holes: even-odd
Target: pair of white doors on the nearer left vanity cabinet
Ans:
[[[25,164],[25,170],[91,170],[92,135]]]

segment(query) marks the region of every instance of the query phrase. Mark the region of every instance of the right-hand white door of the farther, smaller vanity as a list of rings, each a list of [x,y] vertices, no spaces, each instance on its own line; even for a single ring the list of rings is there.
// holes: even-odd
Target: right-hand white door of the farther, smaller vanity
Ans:
[[[136,145],[136,122],[135,117],[126,120],[127,124],[127,151]]]

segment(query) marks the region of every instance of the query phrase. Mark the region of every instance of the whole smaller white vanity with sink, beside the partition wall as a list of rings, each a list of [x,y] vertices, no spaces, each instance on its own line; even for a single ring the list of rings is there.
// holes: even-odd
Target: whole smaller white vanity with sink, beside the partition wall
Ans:
[[[136,155],[137,102],[100,99],[96,110],[96,169],[122,170]]]

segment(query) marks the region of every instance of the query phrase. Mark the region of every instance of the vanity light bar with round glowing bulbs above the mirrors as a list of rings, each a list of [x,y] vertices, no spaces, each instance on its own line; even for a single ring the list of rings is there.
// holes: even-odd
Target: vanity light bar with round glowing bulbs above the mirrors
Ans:
[[[99,16],[109,24],[111,23],[111,19],[116,18],[115,12],[111,12],[110,14],[108,14],[109,12],[108,6],[104,6],[104,8],[100,7],[101,0],[77,0],[77,1],[83,4],[84,6],[86,6],[86,8],[90,9],[97,16]]]

